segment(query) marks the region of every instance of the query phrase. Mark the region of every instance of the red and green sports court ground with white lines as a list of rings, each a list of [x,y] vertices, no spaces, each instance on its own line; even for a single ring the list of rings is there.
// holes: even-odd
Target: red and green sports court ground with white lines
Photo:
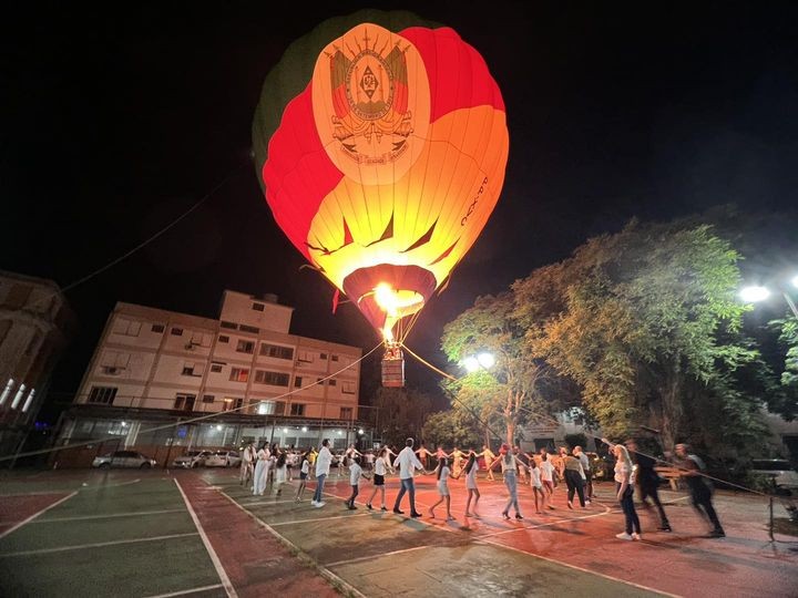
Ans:
[[[294,482],[296,484],[296,481]],[[623,542],[610,484],[589,508],[534,513],[520,488],[523,520],[501,518],[500,481],[480,480],[482,518],[463,517],[463,480],[451,481],[454,522],[427,516],[434,478],[420,476],[410,519],[348,511],[347,477],[334,473],[326,505],[255,497],[237,472],[18,472],[0,478],[2,596],[796,596],[798,537],[770,542],[767,502],[718,493],[727,537],[706,528],[683,493],[663,492],[674,533],[641,509],[643,542]],[[388,507],[398,481],[388,478]],[[409,513],[406,496],[402,509]],[[512,512],[511,512],[512,513]],[[786,512],[777,504],[777,523]],[[786,526],[777,527],[790,532]],[[795,534],[795,532],[791,532]]]

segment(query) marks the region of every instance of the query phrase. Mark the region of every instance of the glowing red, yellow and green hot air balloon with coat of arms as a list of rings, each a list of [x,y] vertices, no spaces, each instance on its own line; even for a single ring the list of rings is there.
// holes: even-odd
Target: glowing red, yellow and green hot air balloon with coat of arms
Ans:
[[[441,289],[504,181],[504,103],[482,56],[408,12],[330,19],[267,75],[253,142],[277,225],[397,355],[398,322]]]

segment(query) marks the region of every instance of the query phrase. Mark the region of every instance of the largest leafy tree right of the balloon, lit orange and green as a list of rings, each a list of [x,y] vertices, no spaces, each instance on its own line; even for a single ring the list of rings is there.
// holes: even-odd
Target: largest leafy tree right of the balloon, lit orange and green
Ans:
[[[737,259],[709,226],[633,220],[513,286],[525,350],[580,384],[607,435],[645,424],[673,446],[688,385],[712,393],[756,358],[737,342]]]

